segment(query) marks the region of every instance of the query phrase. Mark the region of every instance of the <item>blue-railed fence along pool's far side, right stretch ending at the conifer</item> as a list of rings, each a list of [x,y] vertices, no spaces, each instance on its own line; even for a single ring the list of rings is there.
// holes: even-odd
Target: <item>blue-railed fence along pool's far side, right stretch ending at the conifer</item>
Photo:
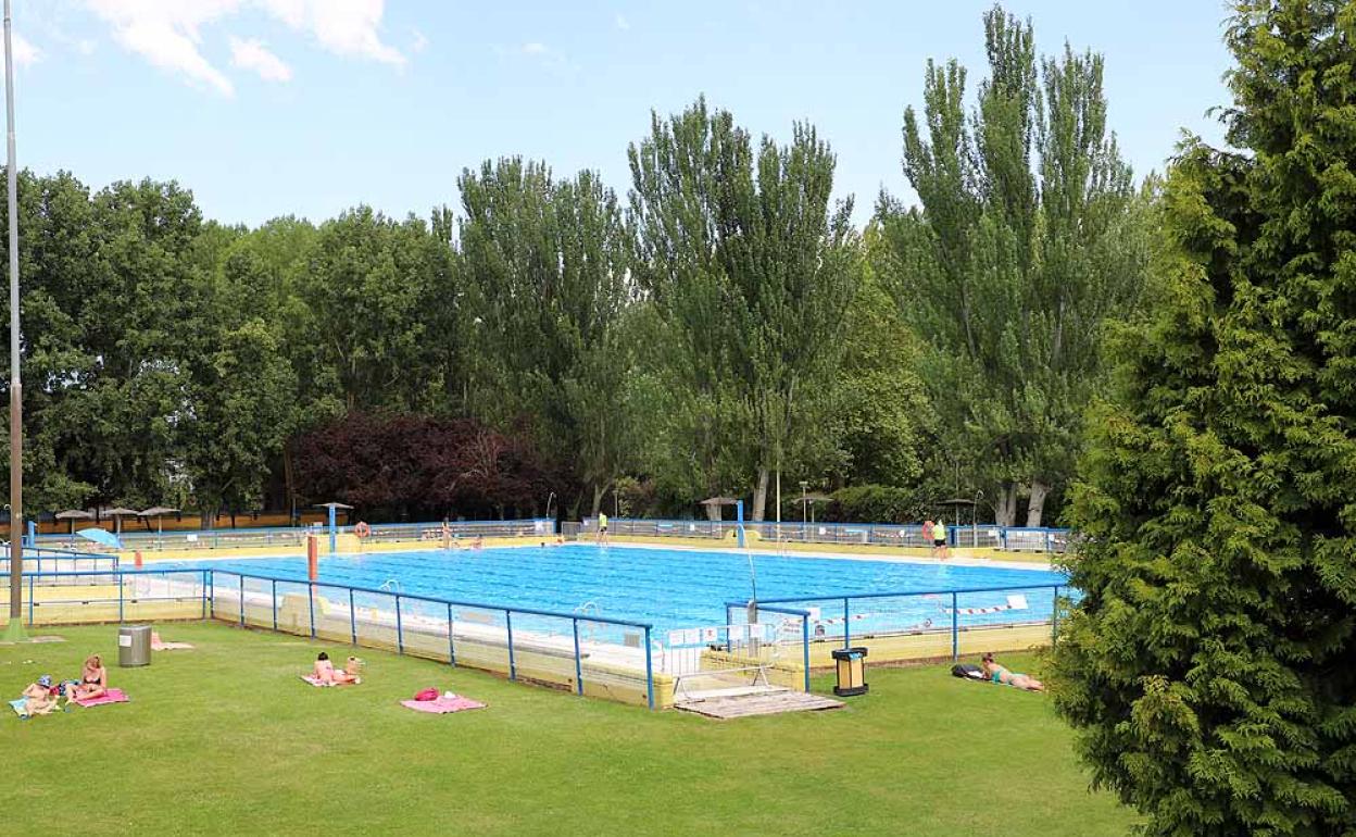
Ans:
[[[641,520],[609,518],[610,534],[635,537],[694,537],[706,540],[736,539],[740,528],[744,533],[755,533],[759,540],[801,544],[856,544],[876,547],[932,547],[923,539],[922,524],[801,524],[801,522],[751,522],[705,521],[705,520]],[[570,526],[570,524],[563,525]],[[598,520],[587,517],[578,529],[578,537],[590,539],[598,534]],[[946,526],[946,541],[952,547],[989,547],[1012,552],[1066,552],[1070,544],[1069,529],[1018,528],[998,525],[955,525]]]

